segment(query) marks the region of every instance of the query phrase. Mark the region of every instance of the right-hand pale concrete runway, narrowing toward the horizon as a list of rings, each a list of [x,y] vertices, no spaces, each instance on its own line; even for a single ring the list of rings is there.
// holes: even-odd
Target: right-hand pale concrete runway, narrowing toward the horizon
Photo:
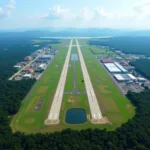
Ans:
[[[92,123],[105,123],[105,120],[103,119],[99,104],[97,102],[97,98],[89,77],[89,73],[87,71],[84,58],[78,43],[78,40],[76,40],[77,44],[77,49],[78,49],[78,54],[79,54],[79,59],[81,63],[81,69],[84,77],[84,82],[85,82],[85,87],[86,87],[86,92],[88,96],[88,101],[90,105],[90,110],[91,110],[91,121]]]

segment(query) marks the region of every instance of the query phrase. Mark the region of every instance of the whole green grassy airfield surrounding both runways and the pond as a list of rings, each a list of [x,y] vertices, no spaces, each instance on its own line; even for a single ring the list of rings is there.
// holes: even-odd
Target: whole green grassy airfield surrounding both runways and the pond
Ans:
[[[41,42],[42,40],[44,39],[41,39]],[[81,46],[78,45],[78,42]],[[106,128],[108,130],[114,130],[116,127],[121,126],[122,123],[127,122],[128,119],[134,116],[134,107],[131,105],[130,101],[119,92],[105,70],[97,62],[95,56],[93,56],[89,50],[89,48],[93,48],[93,46],[88,45],[87,40],[80,39],[78,41],[73,40],[73,46],[71,45],[69,47],[70,54],[76,53],[79,60],[74,64],[68,56],[68,67],[66,70],[67,77],[64,81],[65,86],[63,87],[64,94],[62,94],[61,104],[59,105],[60,109],[58,107],[57,112],[57,119],[59,116],[59,122],[55,125],[45,125],[45,120],[48,118],[48,115],[51,115],[49,113],[63,71],[64,62],[68,53],[67,45],[69,45],[69,43],[70,40],[68,39],[62,40],[62,43],[60,44],[52,44],[52,47],[57,48],[59,51],[48,69],[38,81],[28,99],[22,102],[19,112],[13,116],[10,124],[13,131],[37,133],[61,131],[65,128],[79,130],[86,128]],[[98,48],[94,47],[94,49]],[[103,49],[103,52],[104,51],[105,50]],[[85,64],[84,62],[81,63],[81,61],[83,61],[82,57]],[[91,81],[91,83],[88,82],[88,84],[93,88],[93,92],[97,99],[96,102],[98,104],[99,115],[101,117],[107,117],[112,123],[111,126],[107,124],[93,124],[91,120],[88,119],[84,124],[79,125],[70,125],[65,122],[66,111],[70,108],[82,108],[86,111],[87,118],[89,116],[91,118],[95,117],[95,113],[91,116],[92,109],[88,101],[89,95],[86,94],[87,82],[81,82],[83,79],[87,78],[82,74],[85,66],[87,67]],[[84,72],[86,72],[86,70]],[[75,80],[73,80],[73,78],[75,78]],[[97,82],[97,78],[100,79],[100,82]],[[76,90],[79,90],[80,94],[71,92],[74,91],[74,81],[76,81],[75,88]],[[43,100],[43,104],[39,111],[35,111],[34,107],[39,103],[39,100]]]

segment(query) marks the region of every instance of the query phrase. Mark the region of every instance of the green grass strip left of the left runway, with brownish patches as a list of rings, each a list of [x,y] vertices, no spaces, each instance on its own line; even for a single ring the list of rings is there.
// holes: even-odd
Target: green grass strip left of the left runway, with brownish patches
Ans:
[[[67,49],[62,45],[53,45],[53,47],[60,50],[38,81],[32,94],[27,101],[22,102],[19,112],[13,117],[11,126],[14,131],[31,132],[44,127],[44,120],[48,116],[67,53]],[[59,67],[56,67],[56,65],[59,65]],[[41,110],[34,111],[34,106],[41,99],[44,100]]]

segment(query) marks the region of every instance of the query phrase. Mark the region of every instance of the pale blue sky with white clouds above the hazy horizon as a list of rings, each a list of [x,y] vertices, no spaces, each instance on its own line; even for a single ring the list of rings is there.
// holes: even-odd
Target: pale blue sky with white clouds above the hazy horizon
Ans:
[[[0,0],[0,30],[150,29],[150,0]]]

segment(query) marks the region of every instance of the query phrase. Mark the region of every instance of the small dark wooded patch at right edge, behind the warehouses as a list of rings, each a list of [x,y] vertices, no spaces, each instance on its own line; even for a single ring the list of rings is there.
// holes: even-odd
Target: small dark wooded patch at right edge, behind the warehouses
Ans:
[[[150,59],[138,59],[130,62],[130,64],[145,78],[150,79]]]

